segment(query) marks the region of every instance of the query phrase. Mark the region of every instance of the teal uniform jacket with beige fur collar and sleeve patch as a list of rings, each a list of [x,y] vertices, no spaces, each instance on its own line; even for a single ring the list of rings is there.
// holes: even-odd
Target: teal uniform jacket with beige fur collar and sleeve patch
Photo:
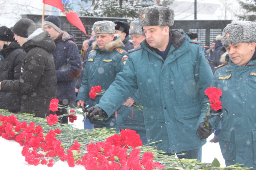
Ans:
[[[108,43],[106,48],[100,50],[96,41],[93,44],[93,49],[86,62],[84,68],[84,77],[82,79],[82,85],[76,97],[78,100],[87,101],[89,98],[89,92],[92,87],[100,85],[102,91],[106,91],[109,85],[115,80],[116,74],[123,70],[124,64],[128,58],[128,54],[122,47],[121,40],[116,40]],[[118,48],[119,47],[119,48]],[[102,95],[97,95],[95,99],[90,98],[89,107],[95,106],[99,103]],[[99,128],[116,128],[116,117],[114,110],[107,120],[104,121],[92,121],[97,123]]]

